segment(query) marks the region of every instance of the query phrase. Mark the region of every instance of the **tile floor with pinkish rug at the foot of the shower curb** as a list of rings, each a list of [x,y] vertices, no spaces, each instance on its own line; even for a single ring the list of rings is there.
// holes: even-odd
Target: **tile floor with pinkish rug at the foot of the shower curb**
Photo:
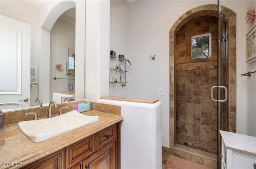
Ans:
[[[170,155],[168,148],[162,147],[162,169],[210,169],[206,166],[186,161]]]

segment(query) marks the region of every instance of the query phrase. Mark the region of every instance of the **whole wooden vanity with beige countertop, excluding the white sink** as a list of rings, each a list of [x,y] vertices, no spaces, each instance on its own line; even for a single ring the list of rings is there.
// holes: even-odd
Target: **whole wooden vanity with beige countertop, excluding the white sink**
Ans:
[[[34,143],[17,129],[6,125],[1,132],[1,169],[88,169],[120,168],[120,122],[122,116],[90,110],[97,122]]]

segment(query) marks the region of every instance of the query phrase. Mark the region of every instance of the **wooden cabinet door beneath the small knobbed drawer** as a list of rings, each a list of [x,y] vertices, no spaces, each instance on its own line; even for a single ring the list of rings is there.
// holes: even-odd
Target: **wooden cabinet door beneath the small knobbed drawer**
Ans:
[[[86,169],[115,169],[116,168],[116,141],[100,149],[83,161],[83,168]]]

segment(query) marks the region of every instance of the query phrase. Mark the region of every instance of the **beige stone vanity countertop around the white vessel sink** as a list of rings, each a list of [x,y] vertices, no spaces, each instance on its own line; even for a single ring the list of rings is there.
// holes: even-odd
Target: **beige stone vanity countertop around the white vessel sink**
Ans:
[[[10,162],[11,165],[12,163],[19,162],[22,162],[23,166],[28,165],[123,120],[122,116],[98,112],[95,110],[83,112],[82,114],[88,116],[98,115],[99,120],[39,143],[34,143],[25,134],[18,130],[18,123],[4,126],[4,130],[0,132],[0,169],[20,168],[4,166],[4,164],[8,162]]]

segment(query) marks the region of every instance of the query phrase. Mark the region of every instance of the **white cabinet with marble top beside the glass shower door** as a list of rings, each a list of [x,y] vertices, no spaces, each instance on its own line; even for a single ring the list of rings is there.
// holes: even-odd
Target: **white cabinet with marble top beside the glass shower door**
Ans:
[[[256,164],[256,137],[220,130],[221,168],[253,169]]]

